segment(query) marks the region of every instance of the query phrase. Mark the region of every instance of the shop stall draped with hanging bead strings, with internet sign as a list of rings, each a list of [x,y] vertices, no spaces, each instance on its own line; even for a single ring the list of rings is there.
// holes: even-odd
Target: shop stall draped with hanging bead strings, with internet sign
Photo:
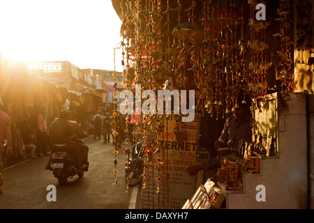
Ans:
[[[137,120],[133,134],[146,149],[142,208],[313,208],[307,109],[313,104],[313,3],[112,0],[112,5],[122,21],[124,83],[135,95],[126,107],[142,105],[126,114],[126,125]],[[167,97],[160,102],[160,91],[171,93],[172,105]],[[190,92],[186,103],[176,100],[176,93]],[[237,157],[221,158],[214,186],[201,193],[204,182],[213,181],[202,174],[186,179],[184,167],[179,173],[167,166],[179,163],[173,148],[180,140],[187,144],[185,128],[193,123],[181,121],[188,112],[181,114],[176,106],[193,104],[200,117],[195,153],[180,153],[180,162],[196,162],[214,155],[214,141],[242,94],[244,104],[251,98],[252,140],[241,141],[237,151],[228,148]],[[117,112],[114,102],[113,128]],[[165,124],[170,117],[177,122]],[[174,141],[170,130],[177,132]],[[128,159],[129,146],[125,153]],[[115,183],[116,165],[115,157]]]

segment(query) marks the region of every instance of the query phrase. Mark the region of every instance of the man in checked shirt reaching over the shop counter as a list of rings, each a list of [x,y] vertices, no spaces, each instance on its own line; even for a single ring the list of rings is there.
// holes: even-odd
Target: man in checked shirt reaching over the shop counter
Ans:
[[[252,130],[251,130],[251,98],[250,95],[246,94],[244,99],[243,93],[239,94],[237,98],[238,107],[234,108],[234,115],[227,118],[223,131],[215,142],[214,147],[216,149],[229,147],[237,151],[239,149],[239,143],[241,141],[252,141]],[[234,154],[232,151],[219,151],[221,157],[232,157]],[[211,160],[203,160],[198,164],[194,164],[186,169],[190,176],[195,176],[201,169],[204,170],[204,175],[211,178],[217,173],[217,169],[220,168],[220,159],[214,158]]]

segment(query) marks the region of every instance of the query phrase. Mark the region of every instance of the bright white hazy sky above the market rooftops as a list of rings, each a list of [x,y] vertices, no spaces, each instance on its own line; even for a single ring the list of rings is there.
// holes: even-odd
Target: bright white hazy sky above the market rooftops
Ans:
[[[0,52],[8,59],[114,70],[120,27],[110,0],[0,0]]]

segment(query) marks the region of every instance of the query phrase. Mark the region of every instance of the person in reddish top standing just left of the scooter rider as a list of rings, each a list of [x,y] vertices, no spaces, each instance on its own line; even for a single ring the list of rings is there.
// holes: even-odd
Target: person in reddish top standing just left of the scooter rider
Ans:
[[[37,146],[36,153],[37,157],[43,157],[47,154],[47,121],[45,116],[45,107],[41,107],[40,113],[37,116]],[[43,153],[43,154],[42,154]]]

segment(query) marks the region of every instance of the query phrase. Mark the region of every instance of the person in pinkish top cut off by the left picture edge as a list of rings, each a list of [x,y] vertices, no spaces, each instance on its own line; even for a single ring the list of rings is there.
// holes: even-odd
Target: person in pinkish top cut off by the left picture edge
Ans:
[[[6,151],[4,151],[5,140],[7,141]],[[3,112],[3,102],[0,98],[0,195],[3,194],[3,152],[6,152],[7,155],[13,154],[10,117]]]

